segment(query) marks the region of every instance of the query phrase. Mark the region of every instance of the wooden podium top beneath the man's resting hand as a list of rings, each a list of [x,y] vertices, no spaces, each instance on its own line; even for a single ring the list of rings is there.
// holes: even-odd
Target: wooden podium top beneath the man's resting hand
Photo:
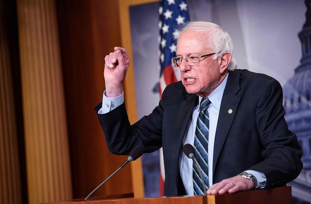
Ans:
[[[265,189],[258,189],[216,196],[133,197],[133,193],[129,193],[91,197],[88,201],[76,199],[42,204],[291,204],[292,187],[280,187],[268,191]]]

